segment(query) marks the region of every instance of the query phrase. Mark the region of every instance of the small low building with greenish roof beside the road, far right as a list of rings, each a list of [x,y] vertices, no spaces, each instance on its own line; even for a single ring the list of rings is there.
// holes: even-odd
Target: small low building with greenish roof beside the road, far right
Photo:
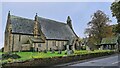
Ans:
[[[101,49],[117,50],[118,48],[118,37],[103,38],[101,42]]]

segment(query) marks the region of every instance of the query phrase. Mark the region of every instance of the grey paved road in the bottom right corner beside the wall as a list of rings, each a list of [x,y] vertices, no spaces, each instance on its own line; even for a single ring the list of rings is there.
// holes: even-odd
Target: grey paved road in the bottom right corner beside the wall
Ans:
[[[62,68],[120,68],[120,54],[92,59],[85,62],[76,62]]]

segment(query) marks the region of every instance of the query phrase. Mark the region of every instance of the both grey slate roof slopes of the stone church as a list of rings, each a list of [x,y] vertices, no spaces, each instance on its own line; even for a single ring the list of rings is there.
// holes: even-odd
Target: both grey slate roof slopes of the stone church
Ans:
[[[38,17],[39,29],[46,39],[69,40],[76,37],[72,29],[66,24],[50,19]],[[33,34],[34,20],[11,15],[12,33]]]

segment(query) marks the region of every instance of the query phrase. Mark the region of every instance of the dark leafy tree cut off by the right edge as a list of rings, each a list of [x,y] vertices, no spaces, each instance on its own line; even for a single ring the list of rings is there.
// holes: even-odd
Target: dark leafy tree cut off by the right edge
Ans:
[[[111,4],[113,17],[116,17],[118,24],[115,27],[115,32],[120,34],[120,1]]]

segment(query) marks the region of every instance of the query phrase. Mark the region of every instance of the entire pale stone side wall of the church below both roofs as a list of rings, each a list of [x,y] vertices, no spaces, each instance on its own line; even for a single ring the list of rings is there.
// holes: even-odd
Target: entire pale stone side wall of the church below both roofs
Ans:
[[[64,50],[64,45],[67,44],[68,41],[63,40],[45,40],[45,43],[30,43],[29,37],[33,37],[30,35],[20,35],[20,34],[11,34],[11,46],[8,44],[5,47],[5,51],[22,51],[22,50],[30,50],[32,46],[34,46],[36,51],[44,51],[44,50]]]

